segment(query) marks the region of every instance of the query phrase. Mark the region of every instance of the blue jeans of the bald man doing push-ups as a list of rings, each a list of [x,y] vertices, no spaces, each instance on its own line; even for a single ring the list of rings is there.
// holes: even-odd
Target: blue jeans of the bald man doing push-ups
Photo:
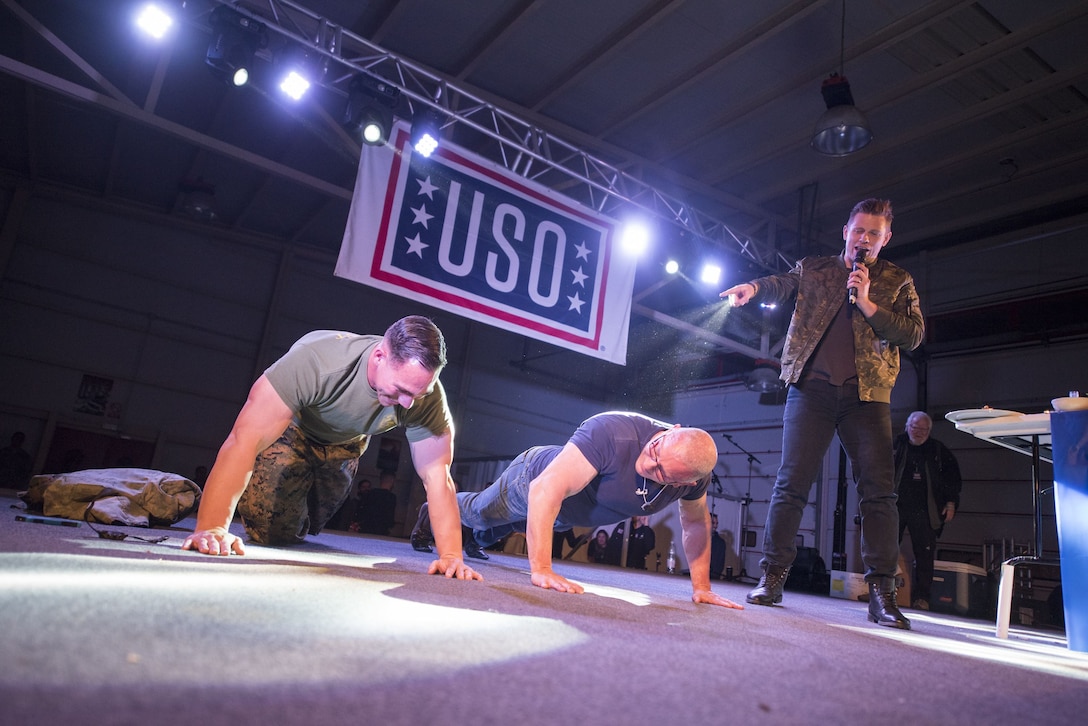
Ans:
[[[536,460],[539,446],[518,455],[510,466],[482,492],[458,492],[461,524],[472,530],[482,547],[490,546],[511,532],[524,532],[529,518],[529,483],[545,464]],[[551,462],[551,457],[547,459]],[[557,529],[570,529],[556,519]]]

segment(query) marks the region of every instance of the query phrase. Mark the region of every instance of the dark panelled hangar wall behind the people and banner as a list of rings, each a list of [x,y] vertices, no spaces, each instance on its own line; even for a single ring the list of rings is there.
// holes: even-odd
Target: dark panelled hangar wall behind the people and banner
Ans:
[[[565,441],[588,415],[643,410],[718,438],[722,483],[712,505],[721,529],[734,536],[734,557],[742,529],[762,541],[781,401],[735,378],[660,376],[688,369],[663,358],[647,384],[639,365],[590,360],[336,279],[327,254],[63,189],[0,185],[0,436],[7,443],[11,432],[25,431],[37,471],[60,469],[81,450],[85,467],[128,463],[191,476],[211,465],[252,380],[300,334],[380,333],[404,315],[423,313],[449,346],[443,381],[463,485],[485,483],[494,462],[529,445]],[[1088,389],[1088,341],[1063,322],[1072,316],[1083,327],[1075,300],[1086,249],[1076,224],[994,235],[942,254],[895,257],[894,243],[888,249],[915,274],[931,335],[943,335],[904,360],[893,419],[898,430],[910,411],[927,410],[934,435],[960,458],[963,506],[941,541],[952,555],[980,561],[989,541],[1031,539],[1027,457],[957,432],[943,416],[980,406],[1036,413],[1052,397]],[[1033,307],[1040,299],[1050,303]],[[1042,312],[1027,316],[1031,310]],[[1056,322],[1042,324],[1038,316],[1048,310]],[[633,350],[646,344],[632,334]],[[726,433],[759,459],[751,471]],[[367,471],[376,471],[375,451],[364,459]],[[418,492],[406,446],[401,458],[406,519]],[[802,528],[805,544],[829,563],[838,477],[832,447]],[[849,489],[852,514],[856,495]],[[752,504],[743,512],[745,494]],[[1056,551],[1049,496],[1043,509],[1044,543]],[[659,550],[679,531],[672,517],[654,522]],[[857,534],[849,521],[853,566]],[[754,570],[757,555],[746,554]]]

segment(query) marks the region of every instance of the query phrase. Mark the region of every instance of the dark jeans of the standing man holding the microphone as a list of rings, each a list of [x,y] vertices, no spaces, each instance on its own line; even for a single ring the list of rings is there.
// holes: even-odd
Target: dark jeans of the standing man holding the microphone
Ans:
[[[895,577],[899,510],[892,475],[891,406],[861,401],[857,385],[791,385],[782,419],[782,464],[770,496],[761,565],[789,567],[808,492],[836,431],[857,482],[865,579]]]

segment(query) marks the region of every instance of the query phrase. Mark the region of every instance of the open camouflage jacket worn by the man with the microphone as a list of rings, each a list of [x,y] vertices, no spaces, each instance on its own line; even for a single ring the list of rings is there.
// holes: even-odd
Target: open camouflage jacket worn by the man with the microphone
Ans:
[[[806,257],[784,274],[753,280],[759,303],[796,302],[782,352],[782,380],[796,383],[805,364],[840,306],[846,302],[849,270],[841,256]],[[922,344],[926,327],[911,274],[886,260],[869,267],[869,299],[878,310],[871,318],[853,317],[857,393],[862,401],[891,402],[899,377],[900,347]]]

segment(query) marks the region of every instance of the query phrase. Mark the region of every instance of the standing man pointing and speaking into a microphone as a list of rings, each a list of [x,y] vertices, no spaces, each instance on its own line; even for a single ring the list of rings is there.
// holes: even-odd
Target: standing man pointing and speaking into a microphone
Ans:
[[[890,201],[861,201],[842,227],[841,254],[806,257],[787,273],[734,285],[721,297],[734,305],[794,300],[782,350],[781,378],[789,386],[782,462],[767,510],[763,576],[747,602],[782,601],[801,517],[838,432],[857,479],[868,619],[908,630],[911,622],[895,604],[891,390],[899,350],[922,344],[925,321],[911,274],[878,259],[891,239],[891,222]]]

